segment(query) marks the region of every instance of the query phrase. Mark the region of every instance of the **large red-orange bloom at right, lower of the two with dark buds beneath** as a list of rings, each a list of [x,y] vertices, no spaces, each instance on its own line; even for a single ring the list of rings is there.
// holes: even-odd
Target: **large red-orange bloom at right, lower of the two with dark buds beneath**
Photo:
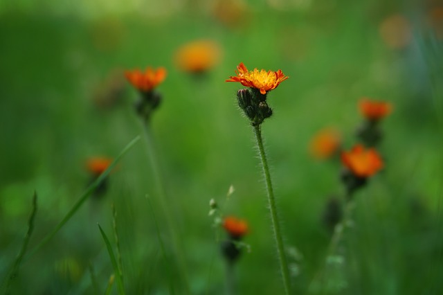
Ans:
[[[350,152],[341,153],[342,163],[356,177],[370,177],[383,168],[383,161],[376,150],[365,150],[363,145],[355,145]]]

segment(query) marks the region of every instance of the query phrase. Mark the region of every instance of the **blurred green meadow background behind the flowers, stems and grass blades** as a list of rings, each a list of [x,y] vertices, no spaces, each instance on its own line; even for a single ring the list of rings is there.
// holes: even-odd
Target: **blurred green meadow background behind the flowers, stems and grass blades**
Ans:
[[[282,294],[253,132],[235,98],[242,86],[224,82],[244,62],[290,77],[269,94],[274,113],[262,132],[295,253],[294,294],[316,294],[309,285],[331,237],[325,206],[343,195],[341,163],[316,157],[311,141],[334,128],[350,149],[363,97],[393,105],[379,146],[386,168],[356,194],[345,262],[326,274],[332,284],[322,294],[443,292],[442,1],[1,0],[0,40],[2,280],[34,191],[30,248],[87,188],[88,159],[112,159],[143,136],[138,93],[124,71],[164,66],[152,132],[191,294],[226,294],[225,234],[208,216],[212,198],[249,225],[237,294]],[[175,283],[159,241],[169,253],[170,237],[156,191],[142,140],[111,172],[105,193],[23,262],[12,294],[105,292],[113,270],[97,223],[115,245],[113,203],[127,294],[170,294]]]

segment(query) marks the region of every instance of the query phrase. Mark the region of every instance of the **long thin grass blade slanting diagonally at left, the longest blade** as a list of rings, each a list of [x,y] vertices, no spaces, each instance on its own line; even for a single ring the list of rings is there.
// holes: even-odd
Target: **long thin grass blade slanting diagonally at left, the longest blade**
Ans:
[[[30,253],[28,254],[28,256],[26,256],[26,259],[30,258],[31,256],[33,256],[35,253],[37,253],[37,251],[39,251],[39,249],[41,249],[42,247],[44,247],[45,244],[47,244],[52,238],[54,238],[54,235],[60,231],[60,229],[62,229],[62,227],[64,226],[64,224],[66,224],[66,222],[68,222],[71,217],[73,217],[73,215],[78,211],[78,209],[82,206],[82,204],[84,203],[84,201],[86,201],[86,199],[93,193],[94,190],[96,190],[96,188],[98,186],[100,186],[100,184],[102,183],[102,181],[109,175],[109,172],[111,172],[112,169],[114,169],[114,167],[116,166],[116,164],[118,163],[118,161],[120,161],[120,159],[140,140],[140,136],[137,136],[136,138],[134,138],[131,142],[129,142],[126,147],[123,149],[122,152],[120,152],[120,154],[118,154],[118,156],[116,157],[116,159],[114,159],[114,161],[111,163],[111,165],[109,165],[109,167],[107,168],[107,170],[105,170],[105,172],[102,173],[102,175],[100,175],[100,177],[98,177],[96,179],[96,181],[94,181],[88,188],[87,190],[83,193],[83,195],[78,199],[78,201],[74,204],[73,208],[71,208],[71,210],[64,216],[63,220],[57,224],[57,226],[55,226],[55,229],[53,229],[53,231],[51,231],[51,233],[48,233],[48,235],[46,235],[45,238],[43,238],[43,240],[41,242],[39,242],[39,244],[37,244],[37,246],[33,249],[33,251],[30,251]]]

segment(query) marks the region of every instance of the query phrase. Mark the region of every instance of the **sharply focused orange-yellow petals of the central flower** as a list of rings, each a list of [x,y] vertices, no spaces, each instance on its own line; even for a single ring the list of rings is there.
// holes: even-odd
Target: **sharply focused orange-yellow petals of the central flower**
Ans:
[[[237,66],[236,76],[230,76],[226,82],[240,82],[243,86],[253,87],[259,89],[260,93],[266,94],[266,91],[271,91],[278,87],[278,85],[289,78],[282,73],[282,70],[274,71],[258,71],[255,68],[253,71],[248,71],[243,62]]]

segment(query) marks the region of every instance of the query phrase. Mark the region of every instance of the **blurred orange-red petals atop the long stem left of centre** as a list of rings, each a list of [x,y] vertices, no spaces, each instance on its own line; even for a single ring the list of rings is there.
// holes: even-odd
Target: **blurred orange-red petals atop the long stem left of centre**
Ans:
[[[136,69],[134,71],[126,71],[125,76],[136,89],[143,92],[149,92],[165,80],[166,69],[160,67],[155,71],[148,66],[145,73]]]

